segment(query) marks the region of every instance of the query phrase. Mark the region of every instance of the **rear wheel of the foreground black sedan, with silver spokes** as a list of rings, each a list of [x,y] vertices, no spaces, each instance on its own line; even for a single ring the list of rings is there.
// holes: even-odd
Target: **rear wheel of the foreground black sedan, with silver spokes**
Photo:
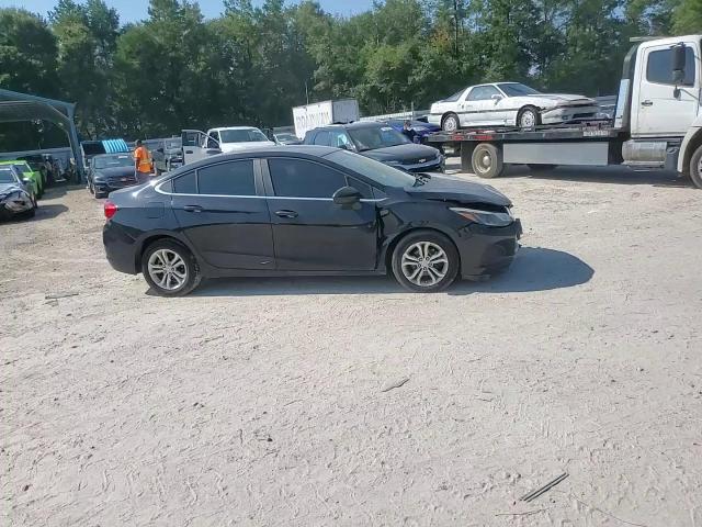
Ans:
[[[149,245],[141,256],[141,272],[160,296],[183,296],[202,280],[192,253],[170,239],[159,239]]]

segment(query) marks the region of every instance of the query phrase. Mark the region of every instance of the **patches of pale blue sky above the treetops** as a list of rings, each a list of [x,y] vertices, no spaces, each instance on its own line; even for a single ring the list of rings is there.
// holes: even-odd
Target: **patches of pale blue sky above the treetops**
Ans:
[[[295,3],[298,0],[287,0]],[[373,0],[317,0],[321,8],[330,13],[350,15],[370,9]],[[29,11],[46,15],[56,5],[57,0],[0,0],[0,8],[20,7]],[[145,0],[105,0],[111,8],[120,13],[120,21],[136,22],[147,16],[148,2]],[[206,18],[214,18],[222,13],[224,4],[222,0],[200,0],[200,8]],[[263,0],[253,0],[253,3],[263,3]]]

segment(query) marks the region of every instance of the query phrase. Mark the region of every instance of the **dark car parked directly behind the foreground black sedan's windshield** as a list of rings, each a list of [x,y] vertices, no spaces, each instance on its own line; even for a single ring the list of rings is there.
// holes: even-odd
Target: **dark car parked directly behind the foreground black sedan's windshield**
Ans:
[[[360,122],[315,128],[305,134],[305,144],[355,152],[408,172],[443,172],[444,168],[444,157],[437,148],[417,145],[382,123]]]

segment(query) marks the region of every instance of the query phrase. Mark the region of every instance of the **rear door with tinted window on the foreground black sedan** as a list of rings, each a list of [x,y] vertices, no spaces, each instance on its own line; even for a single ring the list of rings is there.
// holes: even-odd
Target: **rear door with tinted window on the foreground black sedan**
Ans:
[[[256,162],[210,165],[176,178],[168,189],[181,231],[211,266],[275,269],[271,217]]]

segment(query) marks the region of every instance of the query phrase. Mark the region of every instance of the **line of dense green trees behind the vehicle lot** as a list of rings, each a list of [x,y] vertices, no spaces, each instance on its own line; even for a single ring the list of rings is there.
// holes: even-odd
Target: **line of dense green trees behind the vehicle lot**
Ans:
[[[78,103],[86,138],[292,123],[307,100],[353,97],[364,113],[427,108],[497,80],[613,94],[629,38],[702,32],[702,0],[385,0],[353,16],[318,2],[150,0],[122,24],[103,0],[46,18],[0,9],[0,88]],[[65,144],[38,123],[0,124],[0,150]]]

